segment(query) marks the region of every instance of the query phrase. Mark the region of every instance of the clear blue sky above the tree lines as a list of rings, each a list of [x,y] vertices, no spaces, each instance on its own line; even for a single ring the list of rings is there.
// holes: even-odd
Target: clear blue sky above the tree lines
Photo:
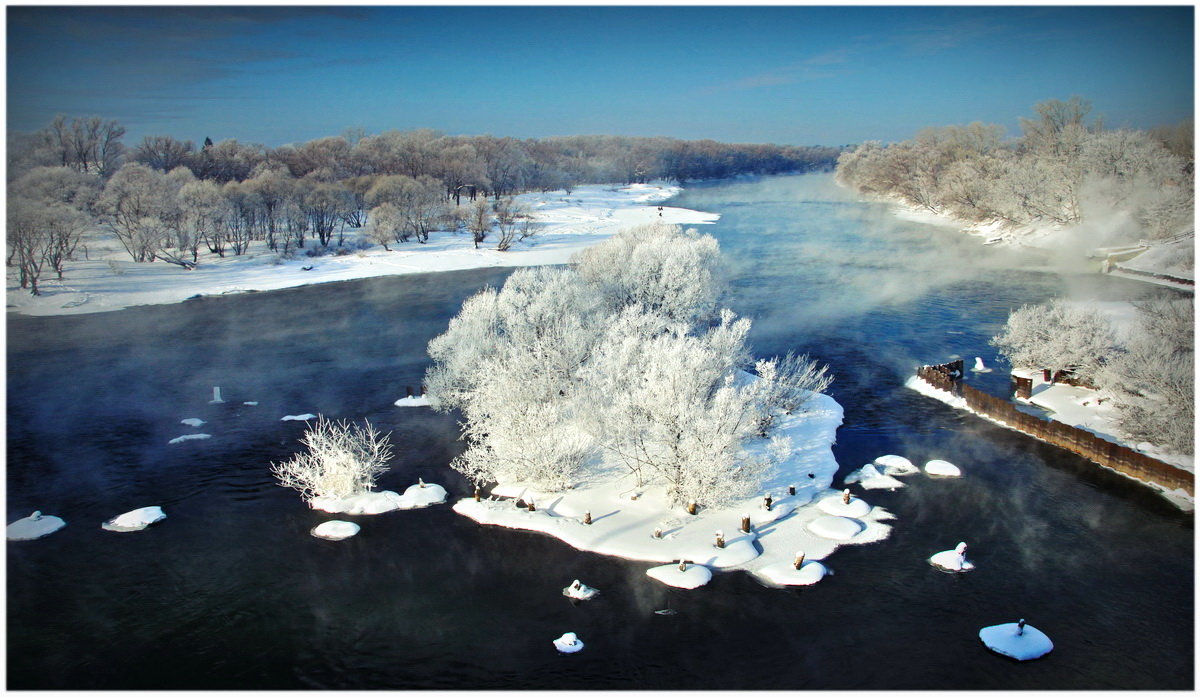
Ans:
[[[836,145],[1080,95],[1192,118],[1193,7],[14,7],[7,127],[282,145],[430,127]]]

